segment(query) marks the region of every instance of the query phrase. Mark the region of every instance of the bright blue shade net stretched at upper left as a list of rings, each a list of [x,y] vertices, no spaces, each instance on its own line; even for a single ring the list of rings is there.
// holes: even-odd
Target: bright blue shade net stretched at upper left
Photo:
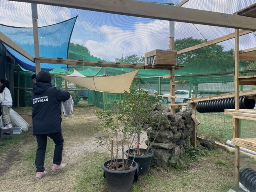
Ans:
[[[68,45],[76,18],[77,17],[74,17],[64,22],[38,28],[40,57],[68,58]],[[33,57],[35,56],[33,28],[18,28],[0,24],[0,31],[30,55]],[[4,46],[14,56],[20,66],[26,70],[33,72],[36,71],[34,62],[28,60],[18,52],[14,51],[12,48],[6,45]],[[41,70],[50,71],[54,68],[62,68],[64,70],[68,69],[67,65],[64,64],[41,63]]]

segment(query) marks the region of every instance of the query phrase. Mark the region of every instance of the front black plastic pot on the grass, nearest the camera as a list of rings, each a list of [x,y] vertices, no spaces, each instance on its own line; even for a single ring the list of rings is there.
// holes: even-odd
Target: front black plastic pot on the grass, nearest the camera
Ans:
[[[118,162],[122,162],[122,159],[118,159]],[[124,160],[126,162],[126,160]],[[106,166],[110,163],[110,160],[102,164],[102,169],[104,171],[104,177],[108,185],[110,192],[129,192],[132,183],[136,178],[138,178],[138,164],[132,160],[128,160],[128,165],[132,165],[133,168],[129,170],[110,170]]]

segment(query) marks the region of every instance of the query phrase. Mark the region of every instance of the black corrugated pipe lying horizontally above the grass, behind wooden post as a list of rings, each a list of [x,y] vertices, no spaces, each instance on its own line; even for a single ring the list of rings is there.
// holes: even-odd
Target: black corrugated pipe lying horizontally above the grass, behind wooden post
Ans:
[[[254,99],[248,99],[247,95],[239,97],[240,109],[253,109]],[[200,113],[224,112],[225,109],[235,109],[235,97],[199,101],[196,110]]]

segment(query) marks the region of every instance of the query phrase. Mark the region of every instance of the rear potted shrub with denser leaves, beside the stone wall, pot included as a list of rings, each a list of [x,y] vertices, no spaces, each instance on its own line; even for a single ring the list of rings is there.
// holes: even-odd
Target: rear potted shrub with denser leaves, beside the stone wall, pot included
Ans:
[[[127,117],[127,123],[134,134],[134,147],[126,150],[124,153],[128,159],[136,161],[139,166],[139,174],[147,173],[154,152],[149,149],[140,148],[140,135],[146,126],[152,126],[152,114],[154,98],[146,89],[130,89],[130,92],[124,94],[123,112]]]

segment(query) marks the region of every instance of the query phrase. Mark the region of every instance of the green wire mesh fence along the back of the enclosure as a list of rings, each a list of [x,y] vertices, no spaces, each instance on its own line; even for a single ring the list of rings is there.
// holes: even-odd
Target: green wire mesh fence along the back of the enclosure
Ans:
[[[31,72],[15,72],[14,85],[14,106],[31,106],[30,97],[33,92]],[[245,73],[246,75],[247,73]],[[234,74],[213,74],[213,75],[184,75],[177,76],[175,80],[184,81],[175,86],[178,90],[198,91],[201,96],[210,96],[234,92]],[[52,84],[58,88],[65,88],[65,80],[52,74]],[[103,110],[113,110],[112,101],[122,100],[124,94],[113,94],[101,91],[88,90],[72,82],[66,82],[67,90],[74,100],[74,106],[95,105]],[[132,85],[135,89],[144,88],[157,92],[160,95],[170,94],[170,78],[163,77],[135,79]],[[255,86],[241,86],[240,90],[253,90]],[[152,99],[154,99],[152,97]],[[156,102],[162,102],[158,97]],[[163,104],[168,105],[168,103]],[[232,116],[224,113],[199,113],[197,118],[201,122],[198,126],[198,134],[212,136],[220,142],[231,140]],[[255,135],[254,122],[241,120],[243,130],[240,135],[243,138]]]

